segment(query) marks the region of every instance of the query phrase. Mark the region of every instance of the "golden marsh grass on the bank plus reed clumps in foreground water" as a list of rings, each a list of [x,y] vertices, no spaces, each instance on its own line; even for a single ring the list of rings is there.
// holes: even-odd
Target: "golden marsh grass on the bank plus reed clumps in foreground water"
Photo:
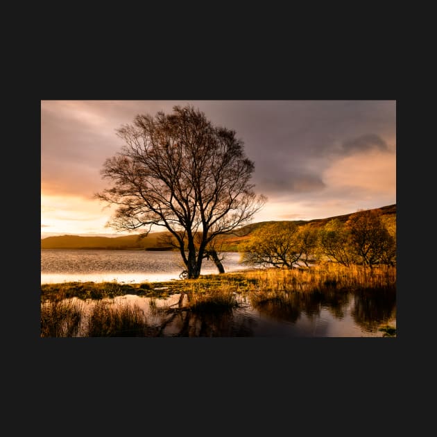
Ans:
[[[41,336],[76,336],[80,320],[87,320],[81,336],[153,336],[153,327],[137,305],[114,304],[107,299],[133,294],[150,298],[151,314],[220,314],[249,301],[258,309],[279,311],[289,318],[298,316],[298,302],[308,295],[305,309],[314,311],[317,293],[341,300],[346,292],[395,293],[396,268],[390,266],[345,268],[320,264],[311,268],[266,268],[223,275],[202,275],[198,280],[117,284],[117,282],[68,282],[41,286]],[[177,304],[157,305],[157,299],[180,294]],[[310,299],[310,295],[313,298]],[[241,299],[237,296],[241,295]],[[298,295],[300,298],[298,299]],[[78,302],[91,300],[88,314]],[[246,300],[247,298],[247,300]],[[314,301],[314,302],[313,302]],[[302,307],[302,303],[300,304]],[[313,308],[314,307],[314,308]],[[292,313],[292,314],[291,314]],[[387,329],[384,335],[393,336]],[[395,335],[395,334],[394,334]]]

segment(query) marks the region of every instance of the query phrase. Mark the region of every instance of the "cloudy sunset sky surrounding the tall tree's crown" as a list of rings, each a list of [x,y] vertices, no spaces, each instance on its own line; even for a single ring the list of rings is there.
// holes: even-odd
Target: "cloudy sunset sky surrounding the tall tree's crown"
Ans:
[[[41,236],[116,234],[103,163],[137,114],[193,105],[235,130],[267,203],[253,222],[311,220],[396,203],[396,101],[41,101]],[[157,230],[164,230],[159,228]]]

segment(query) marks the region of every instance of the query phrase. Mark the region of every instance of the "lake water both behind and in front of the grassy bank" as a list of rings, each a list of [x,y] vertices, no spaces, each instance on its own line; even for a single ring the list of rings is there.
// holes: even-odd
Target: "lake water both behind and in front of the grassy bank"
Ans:
[[[226,272],[241,271],[239,254],[224,254]],[[156,282],[179,280],[182,271],[177,252],[133,250],[41,250],[41,283],[55,282]],[[205,261],[202,274],[217,273]],[[239,308],[221,314],[190,311],[159,313],[156,307],[173,307],[179,295],[155,299],[124,295],[113,304],[142,309],[148,336],[193,337],[382,337],[379,327],[396,327],[396,293],[382,291],[292,293],[284,300],[252,304],[239,295]],[[86,305],[93,305],[88,302]],[[80,334],[78,334],[80,336]]]

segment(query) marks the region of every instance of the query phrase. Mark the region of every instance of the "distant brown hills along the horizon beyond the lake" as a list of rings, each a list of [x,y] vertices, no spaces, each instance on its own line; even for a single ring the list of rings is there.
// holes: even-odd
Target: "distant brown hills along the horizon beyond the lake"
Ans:
[[[379,207],[382,214],[396,218],[396,204]],[[338,218],[343,223],[348,221],[352,214],[359,212],[351,212],[341,216],[332,216],[327,218],[316,218],[314,220],[298,220],[294,221],[297,225],[311,225],[316,228],[323,227],[333,218]],[[250,238],[250,233],[255,229],[268,225],[270,223],[286,223],[286,221],[261,221],[243,226],[234,234],[222,235],[218,241],[222,251],[238,252],[239,245]],[[169,232],[153,232],[147,237],[139,238],[138,234],[125,235],[123,237],[79,237],[78,235],[62,235],[57,237],[46,237],[41,239],[42,249],[110,249],[110,250],[171,250],[170,246],[162,246],[160,237]]]

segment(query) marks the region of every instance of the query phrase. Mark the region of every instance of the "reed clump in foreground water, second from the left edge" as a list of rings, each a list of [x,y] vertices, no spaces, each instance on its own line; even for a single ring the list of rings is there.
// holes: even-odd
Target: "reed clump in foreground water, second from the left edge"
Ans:
[[[88,337],[143,337],[148,332],[146,317],[138,305],[96,302],[87,319]]]

